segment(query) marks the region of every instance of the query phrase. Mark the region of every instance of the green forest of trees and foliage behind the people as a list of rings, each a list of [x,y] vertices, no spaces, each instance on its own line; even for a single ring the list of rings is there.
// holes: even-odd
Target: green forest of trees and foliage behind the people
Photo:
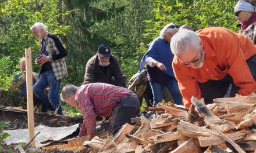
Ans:
[[[128,82],[138,71],[141,57],[147,52],[150,42],[168,23],[189,24],[194,31],[213,26],[239,31],[233,13],[236,2],[0,0],[0,88],[10,92],[9,83],[20,70],[19,59],[24,56],[25,48],[31,47],[32,59],[38,56],[39,41],[29,28],[36,22],[44,23],[48,32],[58,35],[68,52],[69,77],[62,79],[62,86],[82,85],[86,63],[102,43],[111,46]],[[39,70],[40,66],[33,62],[33,71]],[[0,104],[1,101],[6,103],[6,99],[8,96],[2,97]],[[76,109],[63,105],[66,114],[79,114]]]

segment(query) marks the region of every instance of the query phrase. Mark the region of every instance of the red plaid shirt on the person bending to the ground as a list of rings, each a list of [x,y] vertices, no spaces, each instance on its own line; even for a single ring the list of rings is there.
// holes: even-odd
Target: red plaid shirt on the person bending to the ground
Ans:
[[[94,134],[96,116],[111,117],[116,102],[131,90],[106,83],[89,83],[77,89],[75,100],[84,115],[79,136]]]

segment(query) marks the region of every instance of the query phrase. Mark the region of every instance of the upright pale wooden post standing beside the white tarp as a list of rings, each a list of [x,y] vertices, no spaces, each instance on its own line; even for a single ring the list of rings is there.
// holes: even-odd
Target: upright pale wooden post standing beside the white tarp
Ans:
[[[33,81],[32,81],[32,63],[31,48],[25,49],[26,54],[26,82],[27,82],[27,117],[29,127],[29,140],[35,136],[34,130],[34,103],[33,103]],[[35,140],[31,141],[31,145],[35,146]]]

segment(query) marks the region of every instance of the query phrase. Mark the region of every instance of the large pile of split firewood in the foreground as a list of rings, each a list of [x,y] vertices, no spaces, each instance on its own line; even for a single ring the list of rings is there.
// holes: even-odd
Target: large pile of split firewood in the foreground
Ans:
[[[133,118],[113,138],[84,141],[90,152],[254,152],[256,96],[215,99],[214,104],[191,99],[186,110],[159,103],[149,118]],[[147,116],[148,117],[148,116]]]

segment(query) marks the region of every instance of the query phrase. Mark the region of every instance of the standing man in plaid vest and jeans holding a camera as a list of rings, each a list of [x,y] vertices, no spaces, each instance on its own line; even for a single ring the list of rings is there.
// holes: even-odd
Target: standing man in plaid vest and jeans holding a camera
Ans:
[[[40,64],[39,79],[33,86],[35,96],[42,101],[49,110],[62,114],[59,101],[59,88],[61,79],[67,76],[65,56],[67,52],[61,39],[54,34],[49,34],[43,23],[35,23],[30,27],[34,36],[40,41],[40,56],[35,59],[35,64]],[[44,89],[49,86],[48,95]]]

